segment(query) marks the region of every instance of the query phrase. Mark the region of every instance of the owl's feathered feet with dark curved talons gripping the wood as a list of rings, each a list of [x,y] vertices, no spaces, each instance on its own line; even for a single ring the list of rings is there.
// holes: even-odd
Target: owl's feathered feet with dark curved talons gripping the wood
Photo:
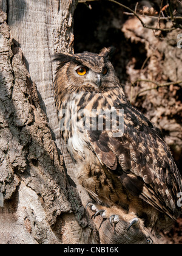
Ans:
[[[117,207],[107,208],[107,207],[92,204],[92,203],[87,204],[86,209],[89,206],[90,206],[90,209],[93,212],[95,212],[92,216],[93,219],[95,219],[96,216],[100,215],[103,219],[109,219],[110,224],[114,227],[116,226],[116,224],[119,221],[126,221],[127,223],[129,223],[127,232],[132,227],[137,227],[138,229],[141,229],[141,231],[144,234],[146,233],[146,231],[144,230],[143,221],[141,219],[137,218],[135,213],[126,213],[126,211],[124,211],[120,208],[117,208]]]

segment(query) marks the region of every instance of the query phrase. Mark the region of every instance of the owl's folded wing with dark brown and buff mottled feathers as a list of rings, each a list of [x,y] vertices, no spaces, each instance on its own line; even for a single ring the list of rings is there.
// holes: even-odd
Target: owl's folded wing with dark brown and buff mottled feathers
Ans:
[[[177,193],[181,178],[160,131],[130,104],[124,108],[124,134],[87,130],[89,142],[102,165],[114,172],[124,187],[166,213],[177,218]]]

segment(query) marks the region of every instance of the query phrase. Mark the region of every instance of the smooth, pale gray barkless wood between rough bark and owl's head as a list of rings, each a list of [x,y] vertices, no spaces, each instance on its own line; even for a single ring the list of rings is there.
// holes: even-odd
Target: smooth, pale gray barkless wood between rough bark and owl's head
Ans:
[[[49,119],[60,148],[60,132],[53,99],[55,52],[73,51],[72,15],[76,1],[8,0],[8,25],[24,52],[26,65],[39,92],[41,107]]]

